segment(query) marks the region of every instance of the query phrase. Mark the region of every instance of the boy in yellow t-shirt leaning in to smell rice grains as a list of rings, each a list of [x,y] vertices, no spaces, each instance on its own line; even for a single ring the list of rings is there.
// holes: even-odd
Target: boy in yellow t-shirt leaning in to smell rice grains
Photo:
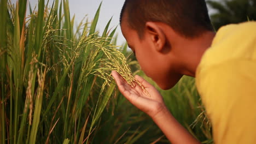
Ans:
[[[183,75],[196,77],[215,143],[255,143],[255,22],[214,33],[204,0],[126,0],[120,25],[142,70],[160,88],[172,88]],[[117,72],[112,75],[120,92],[152,117],[171,143],[200,143],[142,77],[136,79],[150,97],[138,86],[131,88]]]

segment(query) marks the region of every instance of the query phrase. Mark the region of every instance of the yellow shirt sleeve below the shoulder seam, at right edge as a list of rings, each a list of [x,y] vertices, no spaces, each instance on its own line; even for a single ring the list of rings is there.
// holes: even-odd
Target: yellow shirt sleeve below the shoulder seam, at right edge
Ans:
[[[214,143],[256,143],[256,61],[211,65],[200,70],[198,79]]]

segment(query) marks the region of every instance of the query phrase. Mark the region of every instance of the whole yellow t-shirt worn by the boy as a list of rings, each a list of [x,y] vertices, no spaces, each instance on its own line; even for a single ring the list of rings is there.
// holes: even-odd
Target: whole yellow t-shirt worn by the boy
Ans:
[[[196,70],[214,143],[256,143],[256,22],[219,29]]]

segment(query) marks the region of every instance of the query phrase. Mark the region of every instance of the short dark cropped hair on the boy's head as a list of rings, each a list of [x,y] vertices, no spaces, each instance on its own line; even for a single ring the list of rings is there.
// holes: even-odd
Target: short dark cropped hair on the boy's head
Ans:
[[[213,31],[205,0],[125,0],[124,13],[129,26],[143,37],[146,22],[164,22],[187,38]]]

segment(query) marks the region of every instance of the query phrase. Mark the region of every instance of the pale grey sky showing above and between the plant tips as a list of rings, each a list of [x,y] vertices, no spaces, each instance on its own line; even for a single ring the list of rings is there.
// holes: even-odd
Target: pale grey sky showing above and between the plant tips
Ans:
[[[11,0],[15,3],[17,0]],[[21,0],[22,1],[22,0]],[[38,4],[38,0],[28,0],[31,3],[32,8]],[[47,0],[45,0],[47,1]],[[59,0],[61,1],[61,0]],[[98,6],[102,2],[102,7],[100,11],[100,17],[98,20],[98,25],[96,30],[102,33],[104,31],[107,22],[113,16],[112,22],[110,23],[110,28],[118,26],[116,34],[118,34],[117,45],[122,45],[125,43],[123,34],[121,33],[119,25],[119,15],[121,8],[123,7],[125,0],[69,0],[69,10],[70,15],[73,17],[75,14],[75,27],[78,26],[80,21],[87,15],[88,20],[91,21],[97,11]],[[51,5],[53,0],[49,0]],[[211,13],[211,10],[210,10]]]

